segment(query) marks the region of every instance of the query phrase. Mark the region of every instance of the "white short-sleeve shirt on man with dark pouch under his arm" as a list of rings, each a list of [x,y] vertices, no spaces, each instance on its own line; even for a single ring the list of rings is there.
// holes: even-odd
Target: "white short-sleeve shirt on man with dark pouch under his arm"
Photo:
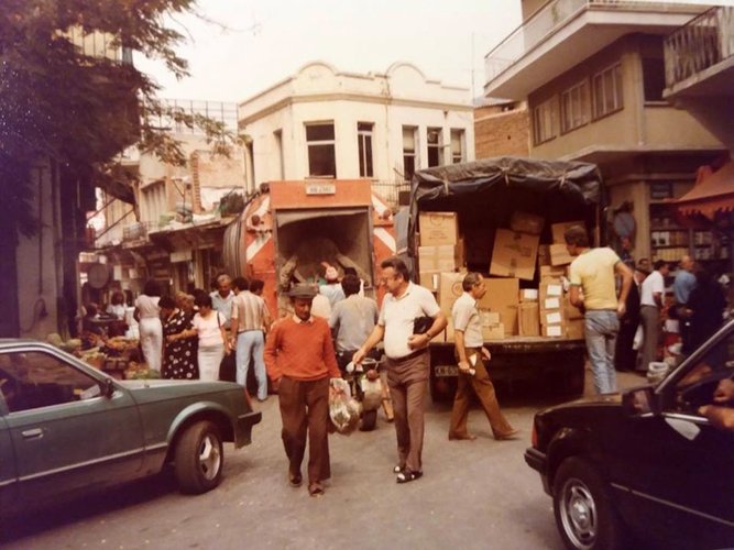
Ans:
[[[408,338],[413,334],[415,318],[435,317],[440,310],[430,290],[414,283],[408,283],[399,298],[386,294],[377,320],[377,324],[385,328],[385,354],[399,359],[413,353],[415,350],[408,348]]]

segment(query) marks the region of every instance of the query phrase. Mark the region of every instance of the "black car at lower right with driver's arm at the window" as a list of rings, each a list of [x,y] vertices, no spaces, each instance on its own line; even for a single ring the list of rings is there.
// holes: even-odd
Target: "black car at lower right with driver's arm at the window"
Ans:
[[[734,547],[734,430],[699,414],[733,376],[734,321],[658,384],[536,415],[525,461],[568,548]]]

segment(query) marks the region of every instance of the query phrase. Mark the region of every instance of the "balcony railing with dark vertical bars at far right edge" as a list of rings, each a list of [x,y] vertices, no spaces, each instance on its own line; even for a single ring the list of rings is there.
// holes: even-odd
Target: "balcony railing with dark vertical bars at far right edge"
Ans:
[[[734,8],[717,6],[665,40],[665,81],[671,86],[734,54]]]

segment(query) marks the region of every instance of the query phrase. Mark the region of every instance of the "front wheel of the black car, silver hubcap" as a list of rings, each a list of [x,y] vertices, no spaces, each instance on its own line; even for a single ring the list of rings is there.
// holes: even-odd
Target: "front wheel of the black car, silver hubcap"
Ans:
[[[558,468],[554,514],[568,548],[611,550],[623,546],[620,519],[604,481],[582,459],[566,459]]]

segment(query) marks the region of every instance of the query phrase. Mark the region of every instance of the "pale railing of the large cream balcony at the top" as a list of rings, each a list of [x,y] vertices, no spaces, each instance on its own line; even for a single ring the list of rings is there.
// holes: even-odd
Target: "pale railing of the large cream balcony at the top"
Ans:
[[[536,11],[484,56],[486,81],[492,81],[579,12],[589,8],[650,10],[666,2],[645,0],[555,0]]]

